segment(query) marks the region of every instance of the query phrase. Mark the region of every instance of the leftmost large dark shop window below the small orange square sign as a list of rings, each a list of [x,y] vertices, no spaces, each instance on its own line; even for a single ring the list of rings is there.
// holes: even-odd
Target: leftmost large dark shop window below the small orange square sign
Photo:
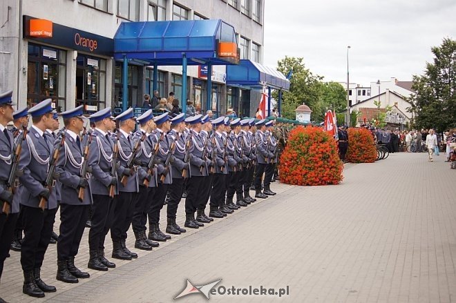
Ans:
[[[66,51],[28,43],[27,105],[51,98],[66,110]]]

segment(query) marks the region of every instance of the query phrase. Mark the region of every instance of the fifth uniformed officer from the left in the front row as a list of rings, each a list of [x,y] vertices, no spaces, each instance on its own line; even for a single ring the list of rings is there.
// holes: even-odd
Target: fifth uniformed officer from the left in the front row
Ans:
[[[119,148],[120,166],[117,169],[117,184],[119,185],[119,194],[114,197],[113,206],[113,224],[111,226],[111,239],[113,240],[112,257],[120,260],[131,260],[137,258],[126,247],[126,231],[133,220],[134,198],[138,192],[138,176],[136,166],[128,167],[127,163],[133,155],[133,138],[131,132],[135,129],[136,121],[133,117],[133,108],[129,108],[117,117],[119,122],[119,140],[116,141]],[[122,177],[126,177],[126,185],[122,184]]]

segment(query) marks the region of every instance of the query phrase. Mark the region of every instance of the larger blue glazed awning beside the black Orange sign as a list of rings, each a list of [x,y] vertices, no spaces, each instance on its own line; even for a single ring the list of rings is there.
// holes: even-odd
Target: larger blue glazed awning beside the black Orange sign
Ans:
[[[237,47],[234,27],[221,19],[122,22],[114,37],[114,58],[180,66],[185,53],[188,65],[237,63],[232,57],[218,56],[220,42]]]

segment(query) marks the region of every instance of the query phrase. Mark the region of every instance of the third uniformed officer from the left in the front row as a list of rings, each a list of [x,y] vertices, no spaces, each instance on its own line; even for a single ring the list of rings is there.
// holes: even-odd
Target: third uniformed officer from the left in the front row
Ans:
[[[82,139],[79,134],[84,128],[83,106],[61,113],[64,120],[65,140],[59,146],[59,159],[56,172],[61,183],[60,233],[57,240],[57,280],[77,283],[78,278],[90,277],[75,266],[75,256],[79,250],[82,234],[92,204],[90,184],[86,176],[81,175],[85,161]],[[56,143],[59,142],[57,139]],[[79,200],[79,189],[84,188],[84,197]]]

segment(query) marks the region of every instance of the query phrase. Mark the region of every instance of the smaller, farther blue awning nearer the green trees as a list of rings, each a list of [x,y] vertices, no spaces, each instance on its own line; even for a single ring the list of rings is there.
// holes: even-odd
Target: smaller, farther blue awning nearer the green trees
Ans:
[[[227,66],[227,84],[250,87],[266,86],[289,90],[289,80],[282,72],[250,60],[240,60],[237,66]]]

